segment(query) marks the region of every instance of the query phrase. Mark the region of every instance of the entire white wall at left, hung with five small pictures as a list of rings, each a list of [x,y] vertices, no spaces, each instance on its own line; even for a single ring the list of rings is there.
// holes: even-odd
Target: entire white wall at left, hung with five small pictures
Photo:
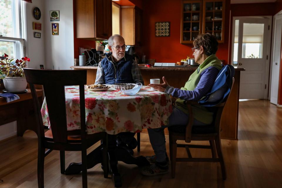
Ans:
[[[39,69],[44,65],[46,69],[70,69],[73,66],[73,0],[33,0],[24,2],[25,6],[25,46],[26,56],[31,59],[28,68]],[[33,17],[33,9],[41,10],[41,18]],[[60,11],[59,35],[52,35],[50,13],[51,10]],[[41,31],[33,30],[32,22],[41,23]],[[41,38],[34,38],[33,32],[41,33]],[[0,126],[0,140],[16,135],[16,122]]]

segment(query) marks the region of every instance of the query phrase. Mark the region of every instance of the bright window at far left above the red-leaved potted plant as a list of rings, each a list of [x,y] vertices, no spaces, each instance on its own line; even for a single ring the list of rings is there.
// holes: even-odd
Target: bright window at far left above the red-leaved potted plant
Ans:
[[[24,56],[21,4],[21,0],[0,0],[0,56]]]

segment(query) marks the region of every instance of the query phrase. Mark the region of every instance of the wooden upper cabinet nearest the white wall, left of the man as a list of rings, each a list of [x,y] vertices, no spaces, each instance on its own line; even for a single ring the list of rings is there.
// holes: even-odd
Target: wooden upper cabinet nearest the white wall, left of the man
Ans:
[[[112,35],[111,0],[75,0],[76,37],[108,40]]]

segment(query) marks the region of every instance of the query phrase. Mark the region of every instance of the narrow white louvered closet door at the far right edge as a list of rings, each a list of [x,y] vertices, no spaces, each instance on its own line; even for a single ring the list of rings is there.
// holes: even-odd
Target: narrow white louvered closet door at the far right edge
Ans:
[[[281,56],[282,15],[275,16],[270,102],[277,105]]]

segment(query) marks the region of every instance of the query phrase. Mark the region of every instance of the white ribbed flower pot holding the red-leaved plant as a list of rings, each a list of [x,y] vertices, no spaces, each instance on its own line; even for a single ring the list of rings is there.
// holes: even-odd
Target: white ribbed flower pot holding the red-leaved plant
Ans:
[[[26,89],[26,77],[5,77],[4,86],[9,92],[23,92]]]

